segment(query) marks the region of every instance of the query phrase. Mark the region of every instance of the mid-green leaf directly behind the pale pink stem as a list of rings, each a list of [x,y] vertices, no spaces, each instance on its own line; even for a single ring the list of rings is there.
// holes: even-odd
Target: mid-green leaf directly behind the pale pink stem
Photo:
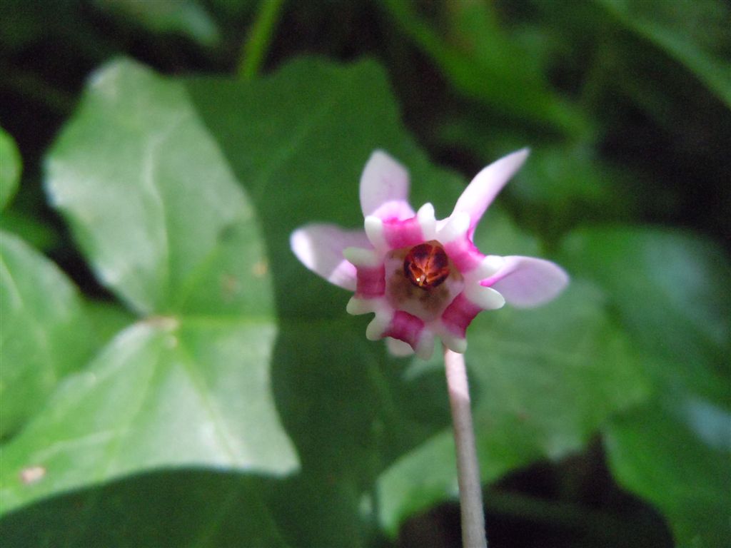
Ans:
[[[648,384],[637,357],[604,305],[595,287],[573,282],[549,305],[485,313],[469,327],[466,363],[483,482],[580,450],[611,414],[644,400]],[[378,490],[380,520],[392,535],[409,515],[455,498],[451,430],[398,460]]]

